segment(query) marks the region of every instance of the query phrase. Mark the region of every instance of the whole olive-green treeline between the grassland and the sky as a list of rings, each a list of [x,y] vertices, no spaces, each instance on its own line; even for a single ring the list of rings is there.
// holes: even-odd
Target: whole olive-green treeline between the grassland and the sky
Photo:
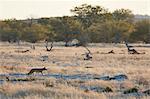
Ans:
[[[124,40],[150,43],[150,20],[135,22],[129,9],[109,12],[101,6],[83,4],[71,12],[73,16],[0,21],[0,40],[35,43],[47,39],[64,41],[66,46],[73,39],[80,44]]]

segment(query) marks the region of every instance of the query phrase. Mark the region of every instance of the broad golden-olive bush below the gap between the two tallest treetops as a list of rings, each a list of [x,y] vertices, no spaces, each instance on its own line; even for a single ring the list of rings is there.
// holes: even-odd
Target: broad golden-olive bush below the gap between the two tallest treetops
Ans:
[[[129,37],[134,26],[128,22],[111,20],[93,24],[88,30],[92,42],[115,42],[116,33],[119,35],[120,42]]]

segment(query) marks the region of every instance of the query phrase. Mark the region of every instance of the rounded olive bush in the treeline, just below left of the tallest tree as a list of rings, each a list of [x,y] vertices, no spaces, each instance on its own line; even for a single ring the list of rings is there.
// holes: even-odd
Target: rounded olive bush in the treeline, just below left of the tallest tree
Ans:
[[[65,46],[68,46],[68,42],[80,33],[80,23],[74,20],[73,17],[64,16],[62,18],[55,18],[51,20],[53,31],[57,35],[56,39],[65,42]]]

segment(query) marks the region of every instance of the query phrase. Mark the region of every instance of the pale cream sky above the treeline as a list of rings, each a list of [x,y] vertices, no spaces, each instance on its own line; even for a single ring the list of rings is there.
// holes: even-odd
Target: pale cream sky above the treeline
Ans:
[[[130,9],[150,15],[150,0],[0,0],[0,19],[27,19],[73,15],[70,9],[81,4],[99,5],[114,11]]]

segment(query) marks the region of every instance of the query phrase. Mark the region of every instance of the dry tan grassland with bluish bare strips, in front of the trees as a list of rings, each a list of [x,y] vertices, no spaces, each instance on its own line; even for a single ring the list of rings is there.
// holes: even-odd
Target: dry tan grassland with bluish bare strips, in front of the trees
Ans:
[[[88,47],[92,52],[92,60],[84,60],[86,49],[83,47],[54,46],[51,52],[47,52],[44,45],[40,44],[36,44],[35,50],[28,44],[0,44],[0,98],[150,98],[142,93],[150,89],[150,48],[137,47],[137,51],[145,54],[132,55],[128,54],[124,45],[92,46]],[[18,52],[27,49],[29,52]],[[110,50],[114,50],[115,54],[105,54]],[[42,61],[42,56],[48,56],[48,59]],[[48,70],[43,72],[44,75],[26,75],[36,67],[46,67]],[[128,79],[95,79],[117,74],[125,74]],[[102,91],[106,88],[112,91]],[[123,93],[131,88],[137,88],[138,92]]]

